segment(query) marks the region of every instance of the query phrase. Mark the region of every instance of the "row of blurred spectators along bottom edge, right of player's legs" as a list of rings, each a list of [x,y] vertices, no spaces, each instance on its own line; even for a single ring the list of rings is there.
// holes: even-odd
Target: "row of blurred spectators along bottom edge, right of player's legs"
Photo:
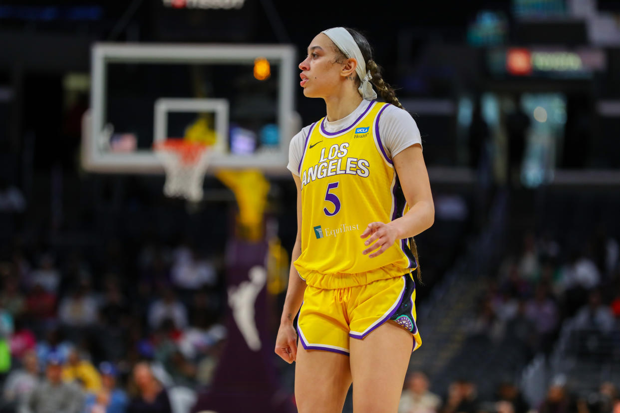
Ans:
[[[482,379],[481,379],[482,380]],[[412,372],[405,380],[398,413],[618,413],[620,393],[613,383],[602,383],[598,392],[587,398],[573,393],[559,378],[549,386],[539,406],[529,406],[518,386],[510,381],[499,383],[494,397],[481,399],[474,381],[461,379],[448,386],[445,394],[429,389],[427,376]]]

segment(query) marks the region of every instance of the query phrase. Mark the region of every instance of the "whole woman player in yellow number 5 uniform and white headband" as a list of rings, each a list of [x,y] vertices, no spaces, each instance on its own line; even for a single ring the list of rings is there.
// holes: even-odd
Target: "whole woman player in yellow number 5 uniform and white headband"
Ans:
[[[351,383],[356,413],[396,412],[422,344],[412,237],[435,215],[420,133],[355,30],[319,33],[299,69],[327,116],[291,140],[298,231],[275,352],[296,361],[299,412],[342,411]]]

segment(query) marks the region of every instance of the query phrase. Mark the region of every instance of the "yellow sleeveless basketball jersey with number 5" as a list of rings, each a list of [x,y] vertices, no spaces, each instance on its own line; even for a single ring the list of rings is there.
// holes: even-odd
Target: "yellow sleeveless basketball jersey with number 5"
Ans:
[[[392,160],[379,136],[387,103],[371,102],[348,128],[314,123],[299,163],[301,256],[294,265],[309,285],[341,288],[399,277],[417,264],[409,240],[368,258],[360,238],[370,222],[390,222],[409,210]]]

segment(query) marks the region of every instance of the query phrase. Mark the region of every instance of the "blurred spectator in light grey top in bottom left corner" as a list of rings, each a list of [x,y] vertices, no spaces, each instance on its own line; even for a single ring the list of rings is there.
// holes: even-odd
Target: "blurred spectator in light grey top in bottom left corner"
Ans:
[[[6,403],[4,406],[12,410],[28,401],[30,393],[37,387],[39,381],[37,353],[30,350],[24,354],[22,365],[23,368],[13,370],[9,374],[2,391],[2,398]]]

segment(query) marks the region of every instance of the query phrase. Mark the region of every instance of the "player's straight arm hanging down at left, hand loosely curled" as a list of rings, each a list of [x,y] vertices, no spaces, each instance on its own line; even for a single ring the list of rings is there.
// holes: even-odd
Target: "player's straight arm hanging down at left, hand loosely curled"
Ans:
[[[301,255],[301,180],[299,180],[298,175],[294,174],[293,179],[297,186],[297,237],[291,253],[288,289],[286,289],[280,329],[278,329],[278,337],[275,341],[275,353],[287,363],[292,363],[297,358],[297,333],[293,327],[293,319],[301,307],[306,290],[306,282],[299,277],[297,269],[293,265]]]

